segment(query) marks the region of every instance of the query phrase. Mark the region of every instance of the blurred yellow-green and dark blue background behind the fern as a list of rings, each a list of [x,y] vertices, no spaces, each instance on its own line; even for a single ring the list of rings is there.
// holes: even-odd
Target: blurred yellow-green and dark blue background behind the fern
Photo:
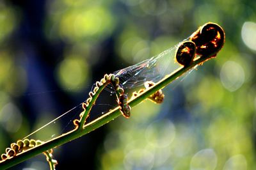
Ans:
[[[164,89],[164,104],[143,102],[131,119],[56,148],[56,169],[256,169],[255,9],[242,0],[0,1],[1,153],[83,102],[104,73],[211,21],[226,32],[216,59]],[[12,169],[23,168],[49,167],[39,156]]]

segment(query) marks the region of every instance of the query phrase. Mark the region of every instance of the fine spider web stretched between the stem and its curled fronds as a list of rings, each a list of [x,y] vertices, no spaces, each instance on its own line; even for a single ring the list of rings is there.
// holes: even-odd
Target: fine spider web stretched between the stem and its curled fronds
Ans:
[[[144,82],[146,81],[158,82],[159,80],[163,79],[163,77],[172,73],[174,70],[180,67],[178,63],[175,63],[175,52],[178,47],[179,44],[175,45],[175,47],[164,50],[163,52],[152,58],[148,58],[145,61],[137,63],[136,65],[128,66],[127,68],[118,70],[113,74],[119,78],[120,86],[124,88],[125,93],[127,93],[127,91],[135,91],[136,88],[141,88],[141,86],[143,86]],[[94,87],[95,84],[93,84],[92,89]],[[100,98],[102,97],[103,99],[101,100]],[[109,99],[106,100],[106,98],[104,97],[112,97],[112,101],[113,98],[115,98],[115,89],[111,84],[106,86],[104,91],[102,91],[102,93],[100,94],[99,98],[97,98],[97,104],[94,107],[92,107],[90,117],[88,118],[88,121],[86,120],[87,123],[89,123],[92,120],[95,120],[95,118],[98,118],[100,114],[104,114],[105,112],[108,112],[110,109],[113,109],[117,106],[116,102],[114,102],[115,104],[113,104],[113,102],[105,103]],[[58,135],[68,132],[69,130],[74,129],[72,121],[74,119],[79,120],[79,114],[83,111],[82,104],[83,103],[76,105],[69,111],[58,116],[58,118],[55,118],[54,120],[38,128],[37,130],[35,130],[34,132],[32,132],[31,134],[27,135],[24,138],[31,137],[45,128],[51,130],[52,128],[54,128],[54,124],[56,123],[56,121],[59,121],[60,119],[66,119],[66,122],[68,122],[67,125],[65,125],[65,127],[62,128],[60,134],[53,134],[51,136],[48,136],[46,139],[52,139],[52,137],[56,137]],[[38,135],[36,135],[36,139],[38,139]]]

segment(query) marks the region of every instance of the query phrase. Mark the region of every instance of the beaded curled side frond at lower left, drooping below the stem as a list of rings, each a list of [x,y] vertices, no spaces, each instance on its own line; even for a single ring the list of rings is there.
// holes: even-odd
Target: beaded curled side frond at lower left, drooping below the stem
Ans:
[[[20,153],[23,153],[24,151],[27,151],[31,148],[34,148],[40,144],[43,144],[44,142],[37,140],[35,141],[34,139],[24,139],[24,140],[19,140],[17,143],[12,143],[10,145],[10,148],[6,148],[5,152],[1,155],[2,160],[1,162],[4,162],[7,159],[11,159],[15,157],[16,155],[19,155]],[[47,162],[49,163],[50,169],[55,169],[55,166],[58,164],[57,160],[54,160],[52,158],[52,149],[44,151],[44,155],[46,157]]]

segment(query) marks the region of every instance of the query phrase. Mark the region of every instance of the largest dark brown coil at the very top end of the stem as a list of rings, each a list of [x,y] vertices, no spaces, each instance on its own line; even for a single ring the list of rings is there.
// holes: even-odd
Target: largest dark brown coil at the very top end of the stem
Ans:
[[[225,33],[223,29],[215,23],[208,22],[199,27],[189,40],[196,44],[196,54],[200,56],[215,57],[217,52],[223,47]]]

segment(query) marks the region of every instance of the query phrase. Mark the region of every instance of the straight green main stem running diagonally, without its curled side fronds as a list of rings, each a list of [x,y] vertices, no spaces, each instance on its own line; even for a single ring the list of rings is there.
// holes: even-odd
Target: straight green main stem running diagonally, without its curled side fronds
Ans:
[[[143,91],[137,97],[129,100],[128,104],[131,107],[134,107],[135,105],[140,104],[140,102],[150,97],[150,95],[155,93],[157,90],[163,89],[166,85],[175,81],[175,79],[178,79],[182,74],[188,72],[188,70],[190,70],[191,68],[194,68],[195,66],[204,63],[210,58],[211,56],[209,56],[208,58],[201,57],[199,59],[196,59],[196,61],[193,61],[193,63],[191,63],[191,65],[189,66],[178,68],[173,73],[170,73],[170,75],[166,75],[164,79],[157,82],[154,86]],[[50,150],[51,148],[55,148],[62,144],[68,143],[69,141],[72,141],[74,139],[77,139],[78,137],[88,134],[89,132],[92,132],[93,130],[101,127],[102,125],[105,125],[109,121],[114,120],[115,118],[120,116],[121,112],[119,109],[120,107],[116,107],[112,111],[109,111],[108,113],[100,116],[96,120],[84,125],[84,128],[76,128],[74,130],[71,130],[66,134],[62,134],[58,137],[55,137],[54,139],[51,139],[39,146],[36,146],[35,148],[31,148],[27,151],[17,154],[15,157],[12,157],[8,160],[1,162],[0,169],[7,169],[9,167],[15,166],[16,164],[19,164],[20,162],[23,162],[28,158],[34,157],[40,153],[43,153],[44,151],[47,151],[47,150]]]

